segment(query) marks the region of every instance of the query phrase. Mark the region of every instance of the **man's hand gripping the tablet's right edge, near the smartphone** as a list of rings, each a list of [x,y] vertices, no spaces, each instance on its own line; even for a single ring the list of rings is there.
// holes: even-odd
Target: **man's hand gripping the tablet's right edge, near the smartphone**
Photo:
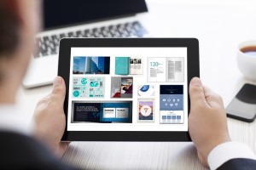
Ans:
[[[194,77],[189,85],[189,133],[201,163],[208,167],[207,157],[218,144],[230,141],[226,112],[221,97]]]

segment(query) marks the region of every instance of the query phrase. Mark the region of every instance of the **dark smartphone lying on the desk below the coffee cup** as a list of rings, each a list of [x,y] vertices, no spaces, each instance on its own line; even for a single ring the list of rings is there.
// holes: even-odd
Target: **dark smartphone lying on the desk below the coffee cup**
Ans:
[[[227,116],[244,122],[253,122],[256,117],[256,86],[244,84],[230,105]]]

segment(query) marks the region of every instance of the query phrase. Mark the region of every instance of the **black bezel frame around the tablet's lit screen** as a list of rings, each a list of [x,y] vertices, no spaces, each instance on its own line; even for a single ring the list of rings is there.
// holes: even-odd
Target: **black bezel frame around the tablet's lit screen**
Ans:
[[[63,77],[67,93],[64,101],[64,112],[67,123],[68,89],[70,76],[71,48],[187,48],[188,61],[188,88],[193,77],[200,76],[199,67],[199,42],[196,38],[63,38],[60,42],[58,76]],[[188,89],[189,92],[189,89]],[[188,111],[190,102],[188,96]],[[189,113],[188,113],[189,114]],[[62,141],[191,141],[188,132],[179,131],[67,131]]]

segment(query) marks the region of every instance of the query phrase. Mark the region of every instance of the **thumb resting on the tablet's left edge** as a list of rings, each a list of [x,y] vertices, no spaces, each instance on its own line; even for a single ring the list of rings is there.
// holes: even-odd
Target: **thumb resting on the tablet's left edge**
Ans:
[[[60,105],[61,108],[63,107],[65,95],[66,95],[66,85],[63,78],[55,77],[55,80],[53,82],[53,90],[51,93],[51,99],[54,103],[56,103],[55,106]]]

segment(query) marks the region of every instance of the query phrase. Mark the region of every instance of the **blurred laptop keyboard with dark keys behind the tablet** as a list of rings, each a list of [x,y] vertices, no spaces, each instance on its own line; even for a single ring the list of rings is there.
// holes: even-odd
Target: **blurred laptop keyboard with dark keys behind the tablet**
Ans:
[[[124,24],[102,26],[92,29],[70,31],[59,35],[36,37],[38,50],[33,54],[35,58],[58,54],[59,42],[63,37],[144,37],[148,31],[138,21]]]

